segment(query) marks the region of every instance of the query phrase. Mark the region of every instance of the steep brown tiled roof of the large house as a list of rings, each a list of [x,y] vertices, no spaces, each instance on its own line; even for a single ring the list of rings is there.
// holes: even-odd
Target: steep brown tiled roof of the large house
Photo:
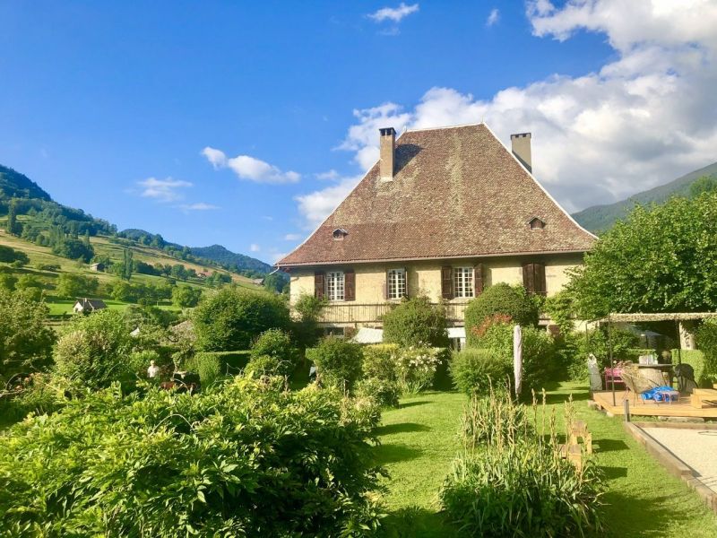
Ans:
[[[484,124],[407,131],[395,163],[393,181],[376,163],[277,265],[583,252],[595,240]]]

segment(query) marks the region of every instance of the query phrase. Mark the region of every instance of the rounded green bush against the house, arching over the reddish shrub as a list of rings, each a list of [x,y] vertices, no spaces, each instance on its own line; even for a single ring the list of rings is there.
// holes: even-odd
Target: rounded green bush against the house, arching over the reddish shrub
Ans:
[[[486,317],[496,314],[509,316],[517,325],[538,325],[538,306],[523,289],[499,282],[486,288],[478,297],[471,299],[465,309],[466,343],[480,347],[480,335],[476,334]]]

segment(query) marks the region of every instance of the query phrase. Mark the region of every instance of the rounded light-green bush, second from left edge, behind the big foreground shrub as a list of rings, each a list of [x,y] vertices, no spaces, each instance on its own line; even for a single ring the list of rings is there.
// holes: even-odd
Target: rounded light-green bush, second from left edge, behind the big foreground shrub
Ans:
[[[125,318],[115,310],[75,317],[56,345],[57,373],[91,389],[127,381],[132,377],[129,333]]]

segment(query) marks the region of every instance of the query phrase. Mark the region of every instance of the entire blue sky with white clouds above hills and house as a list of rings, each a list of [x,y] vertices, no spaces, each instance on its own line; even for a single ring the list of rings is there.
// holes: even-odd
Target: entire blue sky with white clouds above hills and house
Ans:
[[[666,31],[635,4],[3,2],[0,163],[120,229],[268,262],[377,126],[531,130],[567,209],[610,202],[717,161],[713,7]]]

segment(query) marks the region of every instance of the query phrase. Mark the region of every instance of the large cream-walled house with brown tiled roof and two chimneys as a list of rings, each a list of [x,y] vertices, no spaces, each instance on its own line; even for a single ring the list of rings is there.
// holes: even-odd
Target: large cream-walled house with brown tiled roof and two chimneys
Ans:
[[[276,265],[290,299],[329,300],[327,327],[380,327],[391,303],[425,294],[452,325],[486,286],[552,295],[596,239],[531,173],[531,134],[508,150],[485,124],[380,129],[380,159]]]

